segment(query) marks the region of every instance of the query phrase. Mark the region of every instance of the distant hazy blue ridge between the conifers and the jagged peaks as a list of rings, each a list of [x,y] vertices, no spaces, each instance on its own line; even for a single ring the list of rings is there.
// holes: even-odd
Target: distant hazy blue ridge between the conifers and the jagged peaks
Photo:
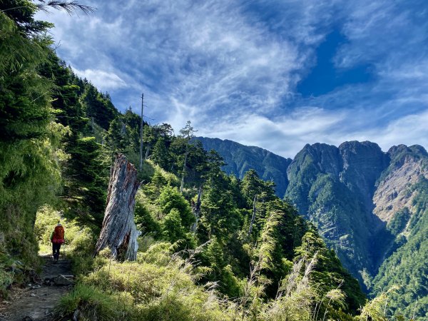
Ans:
[[[224,159],[226,165],[223,170],[228,174],[234,174],[242,179],[250,169],[255,169],[264,180],[275,182],[275,192],[282,198],[287,189],[287,167],[291,163],[290,158],[277,156],[270,151],[255,146],[245,146],[234,141],[219,138],[197,137],[202,142],[206,151],[217,151]]]

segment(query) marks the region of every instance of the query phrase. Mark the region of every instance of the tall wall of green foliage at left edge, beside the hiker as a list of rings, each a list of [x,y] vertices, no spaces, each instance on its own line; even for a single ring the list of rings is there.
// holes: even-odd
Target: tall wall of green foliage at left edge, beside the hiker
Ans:
[[[39,72],[52,53],[51,40],[41,34],[51,24],[34,20],[36,6],[30,1],[2,1],[0,10],[0,282],[4,291],[12,281],[24,282],[28,272],[39,267],[34,220],[39,206],[54,201],[61,180],[59,141],[68,128],[52,122],[54,83]]]

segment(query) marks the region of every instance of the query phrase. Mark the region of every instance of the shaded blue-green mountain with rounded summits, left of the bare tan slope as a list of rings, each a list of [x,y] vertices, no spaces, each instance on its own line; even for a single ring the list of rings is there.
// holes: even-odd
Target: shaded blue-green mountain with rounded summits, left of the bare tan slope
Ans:
[[[375,143],[352,141],[338,148],[316,143],[306,145],[287,168],[286,196],[360,281],[363,270],[375,272],[374,258],[384,246],[372,242],[385,225],[372,214],[372,196],[387,162]]]

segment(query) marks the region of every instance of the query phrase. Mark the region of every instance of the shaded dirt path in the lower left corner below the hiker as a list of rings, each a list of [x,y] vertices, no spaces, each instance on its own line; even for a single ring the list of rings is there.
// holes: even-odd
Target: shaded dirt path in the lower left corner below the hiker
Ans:
[[[58,275],[71,275],[71,262],[59,259],[53,263],[51,256],[42,257],[45,260],[41,281],[27,288],[14,288],[8,300],[0,303],[0,321],[49,321],[53,320],[53,310],[59,298],[68,292],[71,285],[56,285],[53,280]],[[44,282],[48,280],[47,282]],[[57,283],[66,283],[62,278]]]

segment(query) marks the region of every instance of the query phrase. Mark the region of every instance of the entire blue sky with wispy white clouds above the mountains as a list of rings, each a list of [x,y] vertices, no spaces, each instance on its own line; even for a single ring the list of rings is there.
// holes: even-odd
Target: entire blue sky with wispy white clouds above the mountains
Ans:
[[[293,157],[306,143],[428,147],[428,1],[80,1],[58,55],[151,123]]]

